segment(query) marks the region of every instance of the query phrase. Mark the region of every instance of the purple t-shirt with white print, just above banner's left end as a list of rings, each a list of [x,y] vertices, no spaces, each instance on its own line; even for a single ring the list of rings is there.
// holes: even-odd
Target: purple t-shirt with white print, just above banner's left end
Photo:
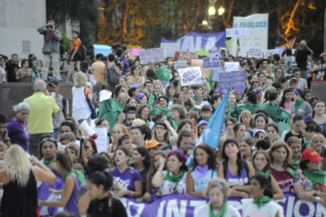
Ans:
[[[128,189],[129,191],[135,191],[135,181],[141,180],[141,176],[138,171],[133,170],[133,178],[130,172],[130,168],[127,168],[123,173],[119,172],[119,169],[116,167],[112,171],[113,185],[119,182],[123,189]]]

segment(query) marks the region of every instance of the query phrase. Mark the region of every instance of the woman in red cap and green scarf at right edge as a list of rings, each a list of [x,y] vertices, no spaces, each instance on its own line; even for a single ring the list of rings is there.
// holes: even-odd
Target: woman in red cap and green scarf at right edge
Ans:
[[[300,159],[300,168],[295,175],[294,190],[298,198],[310,202],[319,202],[326,206],[326,175],[318,169],[323,160],[316,150],[306,148]]]

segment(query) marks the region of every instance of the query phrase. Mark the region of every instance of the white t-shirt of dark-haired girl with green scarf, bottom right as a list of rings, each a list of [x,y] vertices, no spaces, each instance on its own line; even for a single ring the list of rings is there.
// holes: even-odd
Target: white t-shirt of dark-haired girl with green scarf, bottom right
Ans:
[[[284,217],[283,207],[274,201],[267,202],[260,209],[252,202],[252,198],[242,199],[242,216],[243,217],[275,217],[278,214]]]

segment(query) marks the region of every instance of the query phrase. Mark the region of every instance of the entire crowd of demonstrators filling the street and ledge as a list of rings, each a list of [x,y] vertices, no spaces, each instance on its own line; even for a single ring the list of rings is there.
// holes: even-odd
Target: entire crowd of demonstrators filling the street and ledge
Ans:
[[[37,216],[38,207],[53,207],[47,216],[127,216],[117,198],[153,202],[171,194],[208,198],[198,210],[203,216],[241,216],[238,209],[243,216],[284,216],[273,201],[284,192],[326,206],[325,103],[309,89],[314,74],[326,71],[325,53],[315,60],[304,41],[294,55],[286,49],[266,59],[219,53],[221,69],[239,62],[247,72],[246,88],[225,95],[212,72],[204,84],[182,86],[178,58],[142,65],[119,43],[108,57],[83,60],[77,31],[71,52],[58,62],[54,21],[37,31],[52,49],[43,49],[43,64],[32,54],[20,66],[16,54],[0,55],[1,82],[35,82],[13,119],[0,113],[1,216]],[[155,75],[163,66],[168,82]],[[62,82],[73,83],[72,114],[59,94]],[[94,86],[103,89],[98,96]],[[197,144],[224,97],[218,148]],[[289,129],[281,131],[264,108],[243,110],[239,120],[229,115],[259,104],[291,114]],[[85,121],[106,129],[106,152],[98,153],[96,137],[80,128]],[[243,198],[243,207],[228,205],[228,197]]]

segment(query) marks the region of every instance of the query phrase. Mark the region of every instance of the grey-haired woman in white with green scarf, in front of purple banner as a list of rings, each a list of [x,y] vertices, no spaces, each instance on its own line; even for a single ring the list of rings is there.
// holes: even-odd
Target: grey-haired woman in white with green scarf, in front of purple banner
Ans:
[[[194,216],[205,217],[240,217],[237,208],[229,205],[226,198],[230,193],[230,187],[225,180],[214,177],[209,180],[203,194],[209,198],[209,203],[196,209]]]

